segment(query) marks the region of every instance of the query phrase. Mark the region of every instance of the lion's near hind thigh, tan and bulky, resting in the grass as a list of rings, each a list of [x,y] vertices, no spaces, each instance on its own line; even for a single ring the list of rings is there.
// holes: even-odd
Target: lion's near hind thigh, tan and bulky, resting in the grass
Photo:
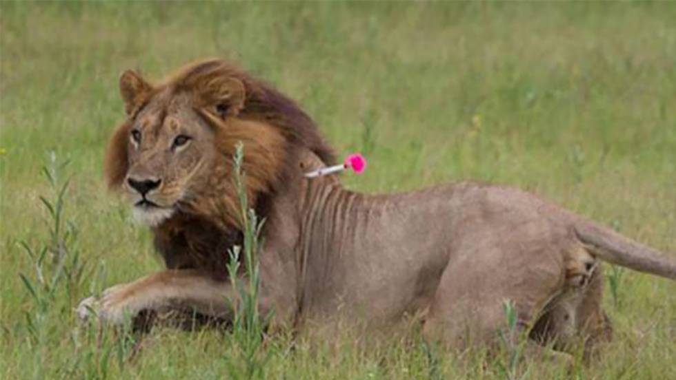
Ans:
[[[528,330],[561,288],[563,263],[541,254],[511,256],[484,246],[450,262],[430,304],[426,335],[461,349],[494,346],[508,327],[506,304],[513,306],[517,328]]]

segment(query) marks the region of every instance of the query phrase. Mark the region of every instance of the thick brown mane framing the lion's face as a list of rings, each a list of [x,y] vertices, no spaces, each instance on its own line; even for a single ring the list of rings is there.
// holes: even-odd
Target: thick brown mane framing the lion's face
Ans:
[[[226,273],[227,249],[239,242],[239,200],[230,180],[235,145],[244,145],[247,196],[261,216],[268,194],[295,169],[295,152],[310,149],[327,164],[335,159],[319,136],[315,123],[286,96],[252,78],[235,65],[208,60],[186,65],[157,86],[135,72],[120,78],[121,95],[129,119],[112,135],[104,162],[108,186],[121,187],[129,169],[128,136],[132,123],[150,98],[159,109],[170,109],[177,95],[215,131],[221,160],[212,167],[214,181],[208,196],[183,204],[183,210],[155,228],[155,244],[169,268],[203,268],[217,277]],[[141,94],[139,94],[139,92]],[[228,107],[226,120],[216,107]]]

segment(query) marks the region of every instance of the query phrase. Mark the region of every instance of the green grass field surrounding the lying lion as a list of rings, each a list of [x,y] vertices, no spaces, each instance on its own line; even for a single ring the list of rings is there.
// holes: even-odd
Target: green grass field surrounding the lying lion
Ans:
[[[77,328],[79,299],[161,268],[150,233],[103,187],[123,70],[159,78],[227,57],[297,99],[341,154],[368,156],[365,176],[345,178],[352,189],[511,184],[676,253],[674,20],[669,2],[0,3],[0,378],[239,373],[221,331],[155,329],[129,359],[125,339]],[[39,197],[59,209],[67,178],[54,222]],[[615,340],[601,359],[570,372],[526,361],[517,374],[674,377],[676,286],[607,269]],[[275,336],[264,377],[507,376],[504,355],[426,348],[411,330],[366,343]]]

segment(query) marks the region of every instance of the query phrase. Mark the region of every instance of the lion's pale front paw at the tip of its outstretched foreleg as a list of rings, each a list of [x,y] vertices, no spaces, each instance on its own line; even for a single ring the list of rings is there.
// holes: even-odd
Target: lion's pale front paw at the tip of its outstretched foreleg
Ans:
[[[75,312],[81,321],[88,321],[93,316],[110,324],[124,324],[137,312],[124,293],[121,286],[113,286],[106,289],[100,298],[92,296],[83,299]]]

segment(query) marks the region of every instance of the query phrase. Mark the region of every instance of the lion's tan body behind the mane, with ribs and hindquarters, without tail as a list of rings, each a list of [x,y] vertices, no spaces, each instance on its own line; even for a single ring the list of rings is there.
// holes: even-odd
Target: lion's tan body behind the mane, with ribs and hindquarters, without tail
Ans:
[[[286,292],[279,279],[264,279],[277,310],[297,299],[302,315],[294,316],[303,320],[387,324],[421,315],[428,336],[455,346],[495,337],[508,299],[521,327],[539,321],[535,338],[567,344],[579,332],[608,330],[599,268],[573,232],[581,218],[530,193],[466,182],[365,196],[332,178],[301,180],[290,193],[280,194],[284,212],[270,215],[261,253],[270,257],[264,272],[279,257],[301,262],[301,283]],[[293,224],[297,233],[275,228]]]

